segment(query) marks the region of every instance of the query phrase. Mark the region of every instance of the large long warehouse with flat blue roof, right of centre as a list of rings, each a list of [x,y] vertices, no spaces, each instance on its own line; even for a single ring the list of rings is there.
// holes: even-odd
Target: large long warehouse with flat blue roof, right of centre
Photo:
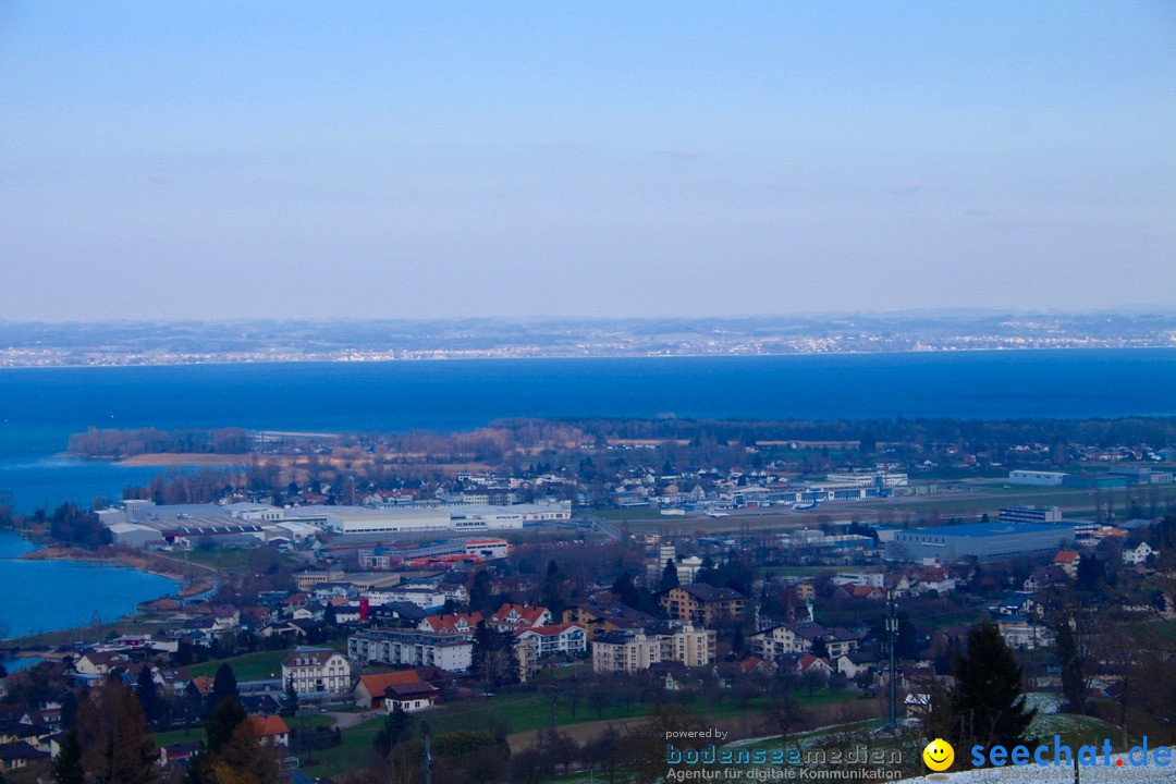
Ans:
[[[1073,525],[1037,523],[974,523],[898,531],[887,542],[887,561],[961,558],[980,562],[1049,555],[1074,544]]]

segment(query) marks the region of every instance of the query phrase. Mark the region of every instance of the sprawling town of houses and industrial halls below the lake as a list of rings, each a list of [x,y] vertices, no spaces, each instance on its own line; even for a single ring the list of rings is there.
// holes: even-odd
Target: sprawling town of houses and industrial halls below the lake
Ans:
[[[808,480],[770,465],[629,470],[610,509],[586,508],[575,487],[535,492],[560,487],[557,476],[495,474],[461,474],[430,496],[353,482],[342,498],[290,488],[281,505],[266,494],[129,498],[93,512],[113,551],[185,563],[245,554],[248,565],[212,568],[203,590],[141,604],[151,631],[13,644],[38,663],[0,681],[0,773],[47,770],[81,696],[109,679],[149,692],[167,776],[202,753],[199,728],[227,695],[299,782],[339,780],[315,756],[348,748],[354,728],[520,693],[554,695],[553,716],[573,701],[573,723],[690,695],[744,708],[799,695],[846,716],[918,722],[950,688],[977,623],[998,629],[1027,684],[1053,692],[1058,624],[1070,624],[1085,635],[1083,698],[1161,715],[1127,686],[1136,668],[1171,671],[1174,661],[1103,648],[1116,624],[1176,621],[1176,524],[1145,511],[1149,490],[1172,482],[1169,455],[1136,454],[989,480],[1025,492],[1117,490],[1134,516],[1100,502],[1094,515],[1024,504],[915,521],[909,507],[863,504],[961,485],[917,483],[889,463]],[[588,706],[579,719],[575,701]],[[759,710],[779,713],[769,703]]]

